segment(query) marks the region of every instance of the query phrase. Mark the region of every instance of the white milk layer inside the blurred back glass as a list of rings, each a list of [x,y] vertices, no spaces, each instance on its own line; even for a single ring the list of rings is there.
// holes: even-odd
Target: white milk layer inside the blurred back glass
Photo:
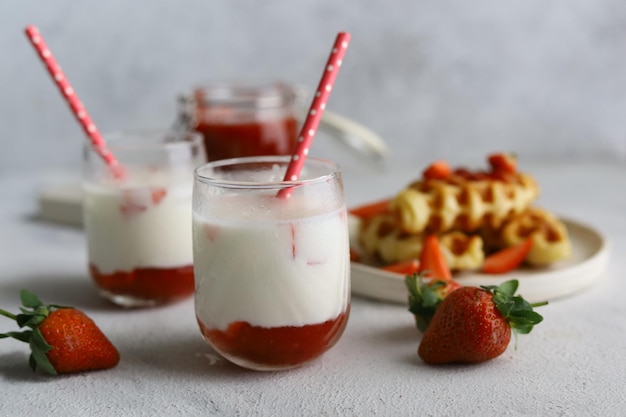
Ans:
[[[122,185],[84,187],[89,262],[101,273],[193,263],[193,176],[133,174]]]

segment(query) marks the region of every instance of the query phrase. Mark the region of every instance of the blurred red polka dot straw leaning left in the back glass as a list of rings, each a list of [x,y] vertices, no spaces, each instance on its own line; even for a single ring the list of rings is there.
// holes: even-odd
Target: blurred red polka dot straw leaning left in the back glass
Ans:
[[[91,120],[89,113],[87,113],[87,110],[85,110],[83,103],[81,103],[80,99],[76,95],[76,92],[74,91],[69,81],[65,77],[63,70],[61,69],[59,64],[56,62],[56,59],[54,59],[52,52],[46,45],[46,42],[41,36],[41,33],[39,33],[39,29],[37,29],[36,26],[30,25],[26,27],[25,32],[31,44],[37,50],[39,57],[41,58],[46,68],[48,69],[48,72],[52,76],[54,83],[59,88],[61,95],[65,98],[65,100],[69,104],[70,109],[72,110],[72,113],[74,113],[74,116],[76,116],[76,120],[78,120],[83,130],[85,131],[85,134],[91,140],[91,143],[96,153],[111,168],[113,174],[116,177],[118,178],[122,177],[123,176],[122,167],[118,163],[115,156],[107,148],[106,143],[104,142],[104,139],[102,138],[102,135],[100,134],[100,131],[94,124],[93,120]]]

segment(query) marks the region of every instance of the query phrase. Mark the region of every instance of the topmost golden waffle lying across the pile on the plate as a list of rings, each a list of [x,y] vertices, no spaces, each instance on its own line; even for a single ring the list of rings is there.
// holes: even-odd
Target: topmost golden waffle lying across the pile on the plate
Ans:
[[[404,233],[475,232],[499,228],[523,213],[539,195],[534,178],[524,173],[471,173],[456,170],[446,179],[421,179],[390,203]]]

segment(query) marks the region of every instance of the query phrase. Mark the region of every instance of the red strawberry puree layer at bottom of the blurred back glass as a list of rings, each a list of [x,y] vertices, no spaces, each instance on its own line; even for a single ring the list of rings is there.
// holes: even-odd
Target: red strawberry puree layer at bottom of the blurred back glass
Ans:
[[[111,294],[160,303],[176,301],[193,294],[193,265],[174,268],[135,268],[102,274],[89,265],[96,285]]]

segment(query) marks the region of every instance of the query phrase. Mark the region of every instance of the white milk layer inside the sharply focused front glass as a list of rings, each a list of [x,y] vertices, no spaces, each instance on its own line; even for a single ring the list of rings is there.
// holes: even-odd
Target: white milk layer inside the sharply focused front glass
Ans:
[[[241,206],[258,207],[256,203]],[[229,204],[221,207],[234,213],[232,218],[218,223],[194,214],[193,219],[196,314],[203,324],[220,329],[234,321],[303,326],[346,311],[350,261],[345,207],[280,221],[269,215],[237,219],[246,215]]]

